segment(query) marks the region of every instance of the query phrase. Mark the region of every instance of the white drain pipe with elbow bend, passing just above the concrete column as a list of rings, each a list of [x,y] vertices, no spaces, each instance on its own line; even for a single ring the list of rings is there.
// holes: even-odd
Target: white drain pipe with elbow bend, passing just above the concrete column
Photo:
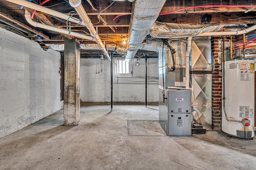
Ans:
[[[72,35],[72,36],[75,36],[75,37],[80,37],[82,39],[88,39],[90,41],[95,41],[95,39],[93,39],[93,37],[90,37],[88,35],[84,35],[84,34],[80,34],[80,33],[76,33],[76,32],[72,32],[72,31],[52,27],[50,25],[44,25],[42,23],[35,22],[31,19],[30,12],[28,12],[27,10],[25,10],[25,18],[28,21],[28,23],[30,23],[30,25],[33,25],[34,27],[40,27],[40,28],[43,28],[43,29],[48,29],[50,31],[56,31],[56,32],[59,32],[59,33],[64,33],[64,34]]]

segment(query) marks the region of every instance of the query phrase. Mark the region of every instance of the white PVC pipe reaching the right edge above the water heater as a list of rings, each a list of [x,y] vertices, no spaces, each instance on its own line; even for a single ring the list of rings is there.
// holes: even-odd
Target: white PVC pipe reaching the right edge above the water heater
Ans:
[[[241,31],[222,31],[222,32],[208,32],[208,33],[201,33],[196,36],[214,36],[214,35],[241,35],[253,31],[256,29],[256,25],[252,27],[246,28]]]

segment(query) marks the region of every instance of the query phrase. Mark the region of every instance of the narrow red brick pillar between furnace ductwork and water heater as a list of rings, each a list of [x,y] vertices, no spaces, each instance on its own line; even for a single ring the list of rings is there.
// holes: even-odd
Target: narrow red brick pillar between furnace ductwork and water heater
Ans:
[[[212,37],[212,129],[221,129],[222,37]]]

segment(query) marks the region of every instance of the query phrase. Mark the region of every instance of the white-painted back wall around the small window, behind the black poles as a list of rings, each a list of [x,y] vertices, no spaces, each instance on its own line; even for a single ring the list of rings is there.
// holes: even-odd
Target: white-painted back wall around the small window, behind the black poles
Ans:
[[[133,67],[133,78],[113,75],[114,102],[145,102],[145,62],[144,59],[139,61],[140,66]],[[148,78],[148,102],[158,102],[158,59],[148,59],[148,77],[157,77]],[[100,59],[81,59],[80,98],[83,102],[110,102],[110,81],[108,60],[102,60],[101,72]]]

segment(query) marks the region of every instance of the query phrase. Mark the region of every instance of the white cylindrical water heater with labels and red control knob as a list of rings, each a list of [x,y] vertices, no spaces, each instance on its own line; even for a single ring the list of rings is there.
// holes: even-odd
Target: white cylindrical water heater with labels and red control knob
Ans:
[[[222,131],[234,137],[254,137],[254,59],[223,63]]]

